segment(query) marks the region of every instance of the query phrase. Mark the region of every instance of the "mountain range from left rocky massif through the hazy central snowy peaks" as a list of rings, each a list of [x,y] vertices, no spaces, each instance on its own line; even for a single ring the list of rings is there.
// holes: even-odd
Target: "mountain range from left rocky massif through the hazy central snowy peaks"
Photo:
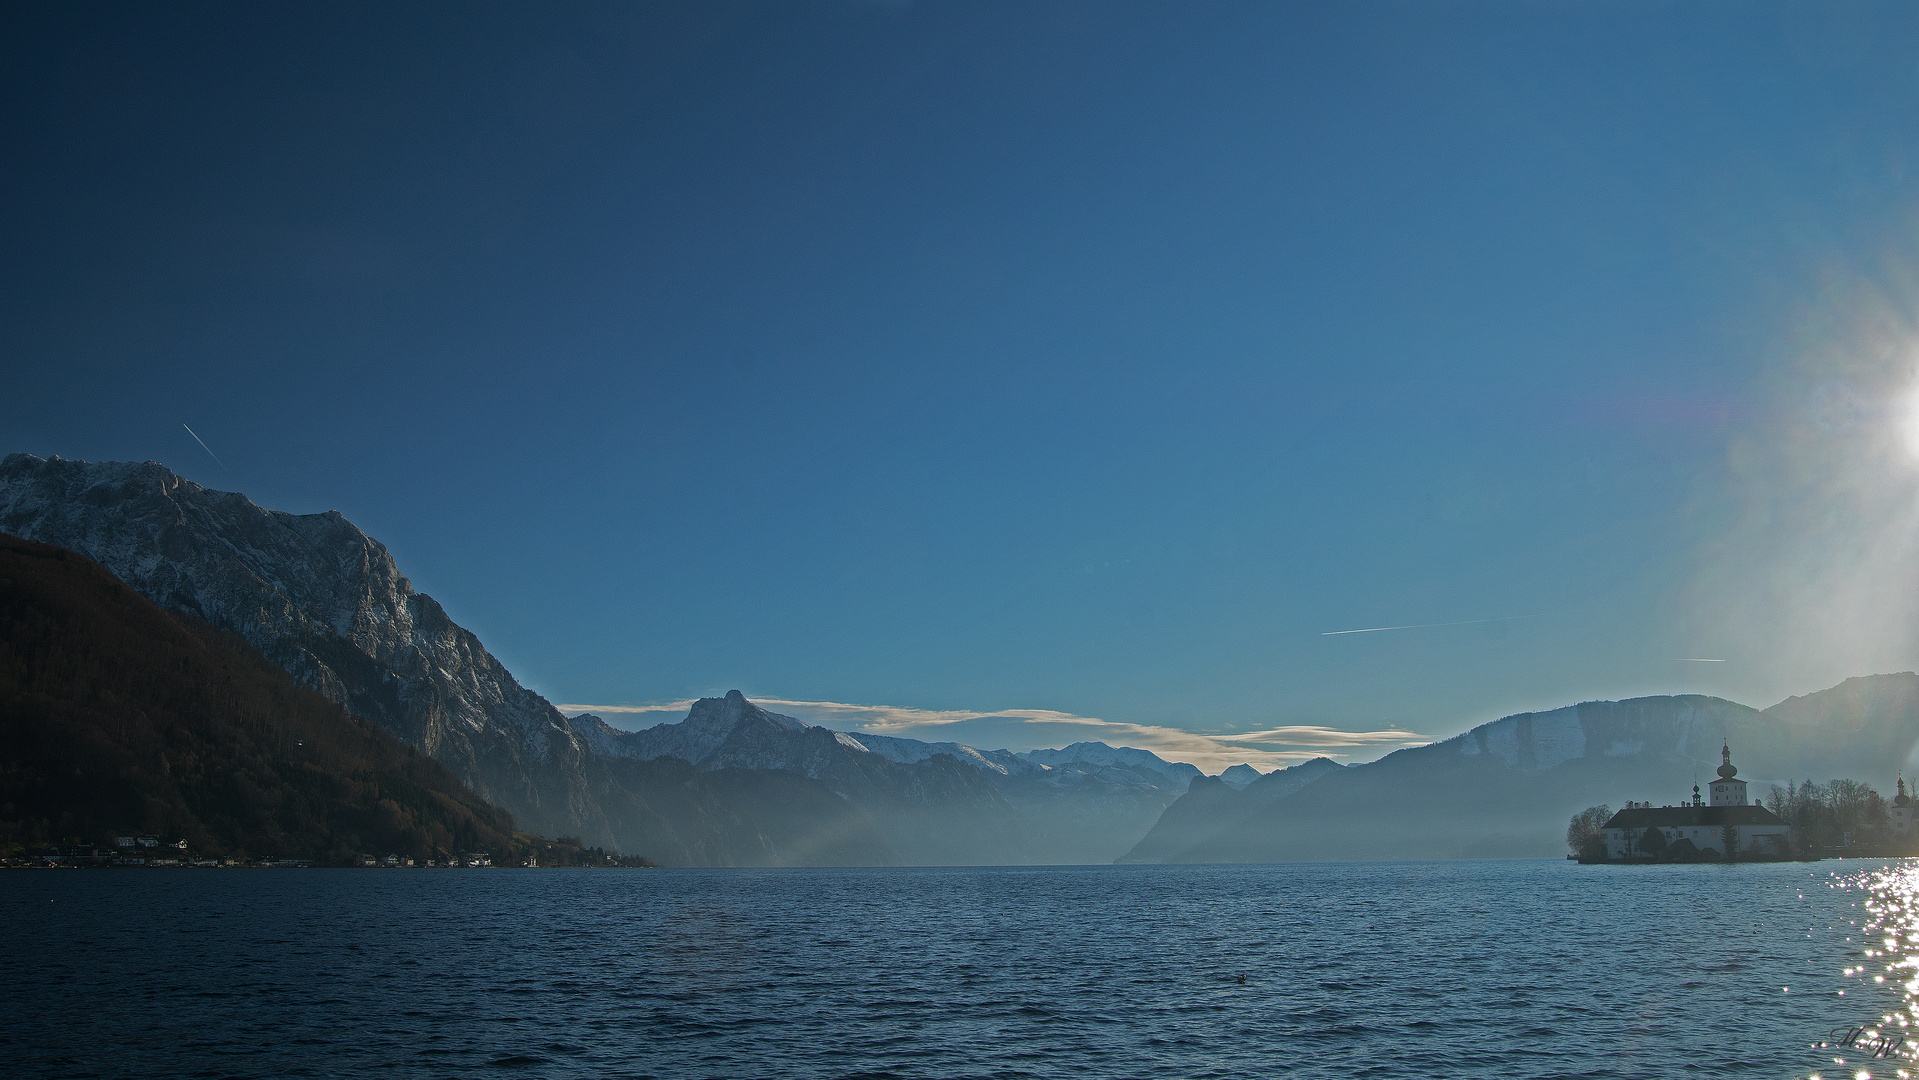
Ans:
[[[662,863],[1111,861],[1199,775],[1098,742],[1036,756],[833,733],[737,693],[641,733],[568,719],[342,514],[265,510],[157,462],[10,455],[0,531],[240,635],[522,829]]]

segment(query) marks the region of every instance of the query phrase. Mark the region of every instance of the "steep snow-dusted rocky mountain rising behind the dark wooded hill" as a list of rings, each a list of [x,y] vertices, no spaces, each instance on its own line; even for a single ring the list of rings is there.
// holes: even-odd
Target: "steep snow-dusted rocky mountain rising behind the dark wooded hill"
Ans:
[[[10,455],[0,531],[86,554],[161,606],[238,633],[426,750],[522,829],[618,846],[566,717],[342,514],[267,510],[157,462]]]

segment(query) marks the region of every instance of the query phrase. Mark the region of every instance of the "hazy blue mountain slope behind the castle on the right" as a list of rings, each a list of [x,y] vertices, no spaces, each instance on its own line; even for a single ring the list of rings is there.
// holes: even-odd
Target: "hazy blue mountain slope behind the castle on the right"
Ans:
[[[1723,744],[1756,798],[1794,779],[1890,788],[1919,746],[1919,675],[1848,679],[1764,712],[1700,694],[1583,702],[1303,785],[1284,777],[1305,765],[1244,790],[1196,783],[1126,861],[1552,856],[1587,806],[1689,800]]]

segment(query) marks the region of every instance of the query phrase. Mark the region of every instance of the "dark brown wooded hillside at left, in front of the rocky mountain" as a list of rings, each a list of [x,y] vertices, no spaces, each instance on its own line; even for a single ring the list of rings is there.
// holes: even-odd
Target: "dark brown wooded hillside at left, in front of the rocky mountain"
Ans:
[[[155,834],[342,865],[530,846],[443,765],[79,554],[0,537],[0,846]]]

